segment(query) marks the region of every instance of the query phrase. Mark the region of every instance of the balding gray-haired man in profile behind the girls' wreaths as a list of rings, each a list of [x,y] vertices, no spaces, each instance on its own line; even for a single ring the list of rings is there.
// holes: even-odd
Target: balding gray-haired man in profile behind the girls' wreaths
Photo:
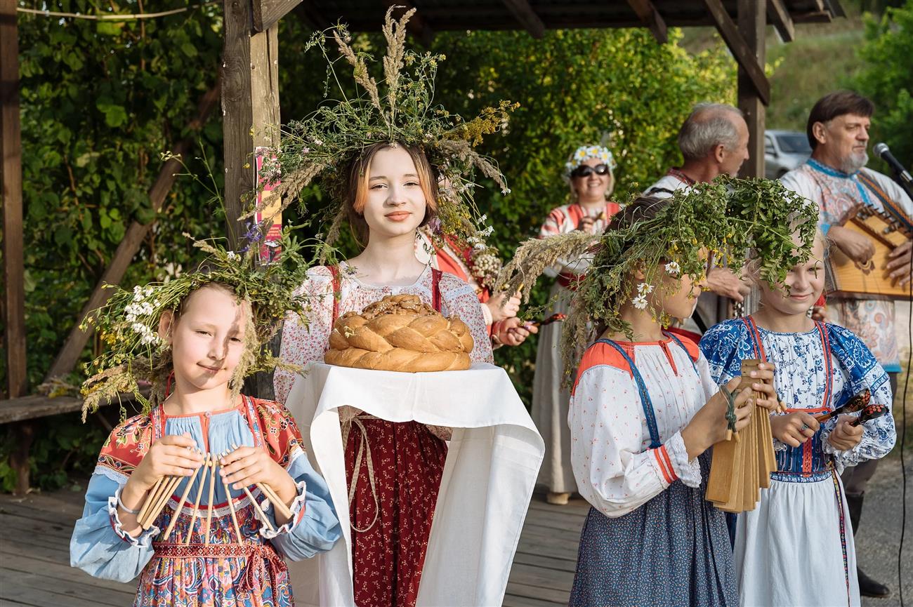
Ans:
[[[698,103],[678,131],[678,147],[685,162],[669,169],[644,194],[668,198],[676,190],[708,183],[723,173],[735,176],[748,160],[748,137],[741,110],[725,103]],[[688,323],[686,329],[703,333],[729,316],[730,299],[741,302],[751,290],[726,267],[711,269],[707,282],[713,294],[700,297],[692,317],[694,324]]]

